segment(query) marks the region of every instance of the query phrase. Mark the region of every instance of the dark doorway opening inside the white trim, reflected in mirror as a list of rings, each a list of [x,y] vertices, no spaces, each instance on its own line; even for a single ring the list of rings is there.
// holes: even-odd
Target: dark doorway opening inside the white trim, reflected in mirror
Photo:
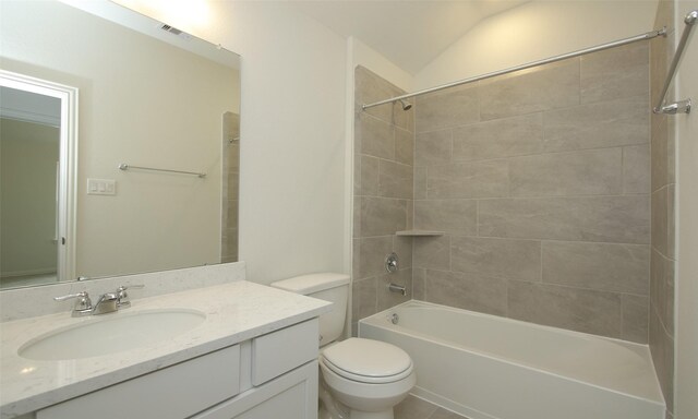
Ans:
[[[58,275],[58,98],[0,87],[0,284]]]

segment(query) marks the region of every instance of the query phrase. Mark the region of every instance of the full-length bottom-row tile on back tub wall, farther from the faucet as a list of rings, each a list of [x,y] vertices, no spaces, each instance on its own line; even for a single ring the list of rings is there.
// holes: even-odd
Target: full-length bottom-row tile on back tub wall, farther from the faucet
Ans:
[[[513,319],[597,335],[621,337],[621,295],[508,282],[508,312]]]

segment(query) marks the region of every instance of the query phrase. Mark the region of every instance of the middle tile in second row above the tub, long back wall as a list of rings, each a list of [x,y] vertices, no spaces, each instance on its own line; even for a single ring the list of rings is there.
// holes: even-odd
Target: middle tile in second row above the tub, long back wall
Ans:
[[[452,271],[519,280],[541,280],[541,242],[453,237]]]

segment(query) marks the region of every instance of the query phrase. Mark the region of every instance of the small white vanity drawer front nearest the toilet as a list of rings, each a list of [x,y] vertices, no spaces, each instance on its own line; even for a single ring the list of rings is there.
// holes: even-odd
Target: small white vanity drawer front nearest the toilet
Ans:
[[[252,339],[252,385],[261,385],[317,358],[317,319]]]

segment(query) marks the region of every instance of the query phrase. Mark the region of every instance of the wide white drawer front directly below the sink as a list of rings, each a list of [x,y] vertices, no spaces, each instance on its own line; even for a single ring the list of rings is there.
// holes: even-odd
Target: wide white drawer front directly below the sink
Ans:
[[[183,419],[238,393],[240,345],[39,410],[36,419]]]

